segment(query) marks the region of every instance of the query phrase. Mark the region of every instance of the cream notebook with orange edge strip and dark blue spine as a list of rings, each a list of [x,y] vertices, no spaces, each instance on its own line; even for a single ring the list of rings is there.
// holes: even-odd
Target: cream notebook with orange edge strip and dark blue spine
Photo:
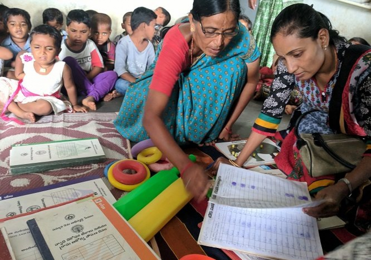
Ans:
[[[44,260],[159,260],[104,197],[45,210],[27,225]]]

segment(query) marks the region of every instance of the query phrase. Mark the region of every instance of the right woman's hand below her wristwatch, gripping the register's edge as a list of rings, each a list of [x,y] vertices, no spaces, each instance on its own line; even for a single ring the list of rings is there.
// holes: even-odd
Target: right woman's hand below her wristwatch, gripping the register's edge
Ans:
[[[344,183],[336,183],[320,190],[316,200],[325,200],[315,207],[305,207],[303,212],[312,217],[331,217],[339,212],[341,201],[348,195],[349,189]]]

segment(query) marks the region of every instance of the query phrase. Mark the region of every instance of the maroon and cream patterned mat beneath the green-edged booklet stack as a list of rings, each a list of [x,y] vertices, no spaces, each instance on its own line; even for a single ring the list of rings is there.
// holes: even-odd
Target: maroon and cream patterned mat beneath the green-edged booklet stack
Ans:
[[[115,113],[76,113],[42,117],[35,124],[18,125],[0,120],[0,193],[13,193],[88,175],[103,177],[104,167],[118,159],[129,158],[129,145],[115,129]],[[90,165],[50,170],[42,173],[11,175],[9,152],[20,143],[37,143],[76,138],[98,138],[106,161]],[[122,192],[103,178],[118,199]]]

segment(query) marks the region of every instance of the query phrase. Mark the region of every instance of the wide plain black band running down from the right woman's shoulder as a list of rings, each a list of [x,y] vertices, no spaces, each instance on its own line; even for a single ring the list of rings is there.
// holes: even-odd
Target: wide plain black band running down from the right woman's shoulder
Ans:
[[[329,102],[328,124],[332,131],[334,131],[334,133],[340,133],[341,124],[344,124],[344,121],[341,120],[342,94],[350,76],[349,74],[359,57],[361,57],[361,55],[368,50],[370,50],[369,46],[362,44],[352,44],[345,51],[344,60],[341,64],[339,72],[339,77],[336,80]],[[345,128],[343,127],[343,129]]]

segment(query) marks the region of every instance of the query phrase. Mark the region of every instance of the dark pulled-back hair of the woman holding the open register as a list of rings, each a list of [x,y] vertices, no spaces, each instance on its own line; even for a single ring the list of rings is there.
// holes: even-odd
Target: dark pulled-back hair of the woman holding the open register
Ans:
[[[296,34],[299,38],[314,40],[321,29],[328,30],[329,43],[332,45],[337,41],[347,41],[337,30],[332,29],[330,20],[324,14],[308,4],[293,4],[283,9],[273,21],[270,40],[272,41],[278,33],[284,36]]]

